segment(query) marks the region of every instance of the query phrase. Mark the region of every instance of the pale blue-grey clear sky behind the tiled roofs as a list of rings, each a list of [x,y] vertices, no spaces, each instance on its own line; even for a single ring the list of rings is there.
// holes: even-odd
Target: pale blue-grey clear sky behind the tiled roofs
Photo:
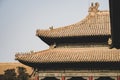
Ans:
[[[108,0],[0,0],[0,62],[16,62],[18,52],[48,49],[36,30],[81,21],[91,2],[99,2],[99,10],[109,10]]]

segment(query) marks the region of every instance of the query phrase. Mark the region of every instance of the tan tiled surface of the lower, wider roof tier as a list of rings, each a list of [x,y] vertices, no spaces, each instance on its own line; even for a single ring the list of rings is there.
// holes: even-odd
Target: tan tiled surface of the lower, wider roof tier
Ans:
[[[17,54],[16,59],[28,63],[118,62],[120,50],[98,48],[53,48],[31,54]]]

